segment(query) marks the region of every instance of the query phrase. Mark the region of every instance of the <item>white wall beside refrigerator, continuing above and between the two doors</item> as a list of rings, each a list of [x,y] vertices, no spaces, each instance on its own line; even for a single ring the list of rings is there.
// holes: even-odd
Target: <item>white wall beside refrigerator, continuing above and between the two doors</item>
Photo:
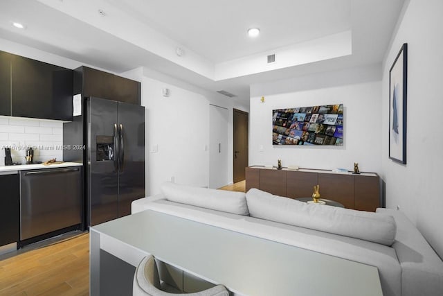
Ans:
[[[159,193],[161,184],[171,178],[179,184],[208,186],[209,105],[229,110],[229,159],[233,159],[233,108],[248,112],[248,107],[150,69],[122,75],[141,81],[141,104],[146,107],[147,195]],[[163,88],[170,89],[169,97],[163,96]],[[157,152],[153,152],[154,147],[158,147]],[[232,162],[228,175],[232,182]]]

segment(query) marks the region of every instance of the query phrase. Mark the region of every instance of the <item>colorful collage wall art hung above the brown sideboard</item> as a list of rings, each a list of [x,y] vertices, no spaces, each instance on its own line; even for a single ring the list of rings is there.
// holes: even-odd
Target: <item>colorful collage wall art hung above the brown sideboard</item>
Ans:
[[[273,145],[343,146],[343,104],[272,112]]]

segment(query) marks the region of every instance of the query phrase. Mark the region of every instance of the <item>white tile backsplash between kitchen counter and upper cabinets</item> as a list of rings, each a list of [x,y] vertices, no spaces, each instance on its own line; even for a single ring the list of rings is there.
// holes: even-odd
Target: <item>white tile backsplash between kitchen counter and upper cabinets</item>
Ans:
[[[26,164],[26,148],[34,149],[34,161],[63,160],[63,121],[0,116],[0,166],[5,165],[5,147],[12,162]]]

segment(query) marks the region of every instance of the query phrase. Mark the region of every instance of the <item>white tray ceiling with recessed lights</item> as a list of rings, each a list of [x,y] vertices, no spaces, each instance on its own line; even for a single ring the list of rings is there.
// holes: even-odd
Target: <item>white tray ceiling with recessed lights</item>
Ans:
[[[404,0],[1,2],[3,40],[115,73],[149,67],[211,92],[224,89],[247,101],[253,83],[381,62]],[[11,26],[12,21],[21,21],[26,29]],[[255,26],[261,34],[251,39],[246,30]],[[345,31],[352,35],[351,54],[311,57],[296,64],[282,59],[278,67],[269,69],[251,67],[254,58],[276,53],[277,59],[282,51],[296,55],[300,46],[315,55],[303,44],[318,40],[317,46],[328,49],[333,45],[325,43],[328,36]],[[185,55],[179,57],[177,47]],[[241,76],[219,73],[226,65],[251,67],[251,71]]]

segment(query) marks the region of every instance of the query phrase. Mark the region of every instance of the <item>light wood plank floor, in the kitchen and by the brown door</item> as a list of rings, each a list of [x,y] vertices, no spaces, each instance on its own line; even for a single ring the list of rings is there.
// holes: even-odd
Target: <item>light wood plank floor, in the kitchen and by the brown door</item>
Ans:
[[[221,187],[245,191],[245,182]],[[0,296],[89,295],[89,234],[0,261]]]

